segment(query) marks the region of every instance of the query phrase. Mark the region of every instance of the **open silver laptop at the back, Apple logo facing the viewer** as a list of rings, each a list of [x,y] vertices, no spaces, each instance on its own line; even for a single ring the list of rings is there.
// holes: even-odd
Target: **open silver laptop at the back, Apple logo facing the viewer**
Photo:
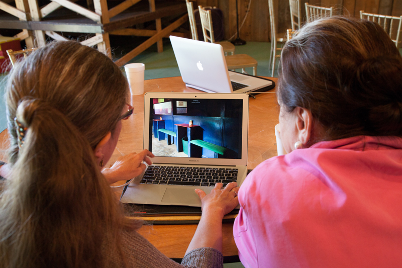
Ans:
[[[272,81],[228,71],[219,44],[170,36],[174,55],[186,86],[205,92],[252,93]]]

